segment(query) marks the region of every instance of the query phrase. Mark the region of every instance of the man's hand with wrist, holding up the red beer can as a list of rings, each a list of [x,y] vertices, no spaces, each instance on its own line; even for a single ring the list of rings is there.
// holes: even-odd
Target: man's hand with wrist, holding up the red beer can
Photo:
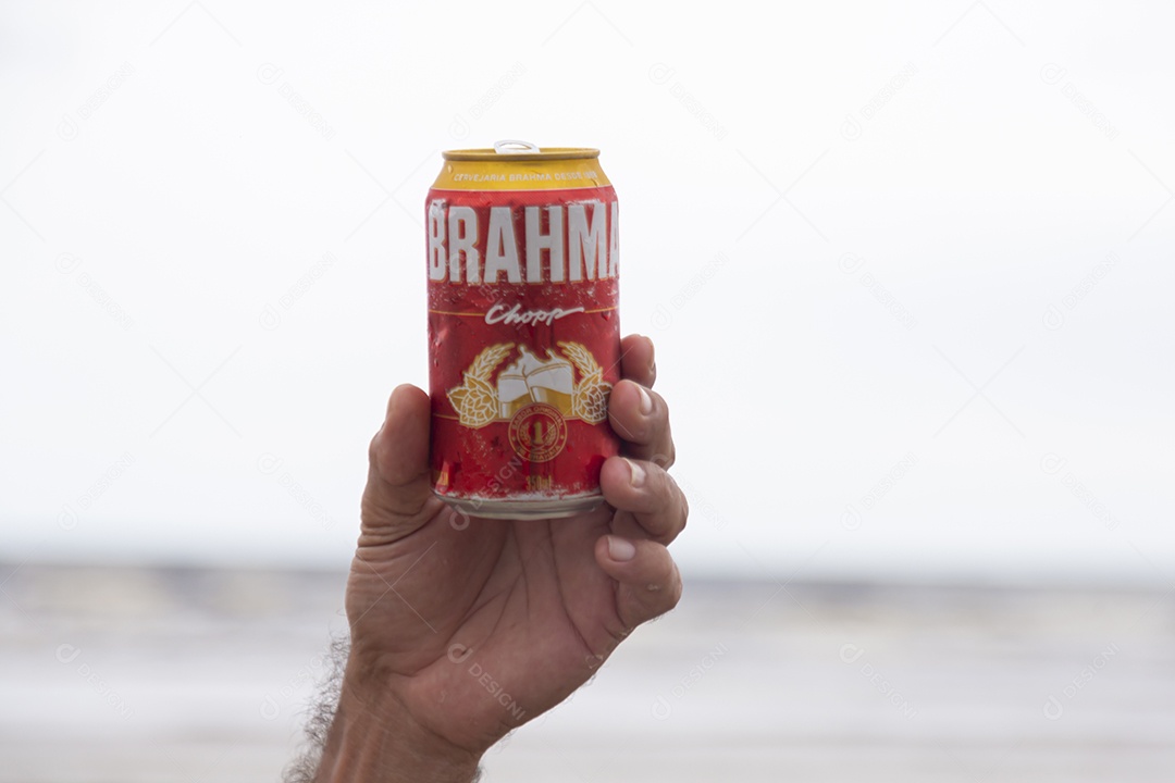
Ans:
[[[622,343],[605,505],[569,519],[469,519],[429,480],[429,399],[396,389],[371,441],[347,587],[351,650],[318,779],[472,779],[508,731],[559,703],[633,628],[673,608],[685,527],[652,342]]]

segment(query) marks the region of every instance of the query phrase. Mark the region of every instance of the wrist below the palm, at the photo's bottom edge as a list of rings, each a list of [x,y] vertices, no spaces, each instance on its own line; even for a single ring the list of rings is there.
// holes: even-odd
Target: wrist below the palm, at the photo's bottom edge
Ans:
[[[352,657],[315,781],[472,783],[479,754],[422,725],[387,679],[356,668]]]

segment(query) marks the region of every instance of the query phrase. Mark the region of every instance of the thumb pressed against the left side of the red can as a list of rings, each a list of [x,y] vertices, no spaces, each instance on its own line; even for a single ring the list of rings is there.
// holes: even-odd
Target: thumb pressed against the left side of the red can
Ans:
[[[410,384],[397,386],[388,399],[388,414],[368,452],[370,467],[363,491],[363,536],[388,542],[421,527],[430,508],[429,396]]]

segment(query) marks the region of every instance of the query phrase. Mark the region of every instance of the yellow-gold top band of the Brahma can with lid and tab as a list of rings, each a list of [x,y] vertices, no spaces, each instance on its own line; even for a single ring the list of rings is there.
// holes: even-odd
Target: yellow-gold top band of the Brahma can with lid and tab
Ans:
[[[437,190],[565,190],[606,188],[599,150],[590,147],[544,147],[499,141],[489,149],[442,153],[444,167]]]

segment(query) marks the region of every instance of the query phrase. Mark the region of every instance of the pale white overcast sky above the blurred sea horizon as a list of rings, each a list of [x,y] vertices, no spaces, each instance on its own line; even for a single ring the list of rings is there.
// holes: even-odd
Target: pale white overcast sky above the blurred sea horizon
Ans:
[[[0,14],[0,559],[342,567],[518,137],[603,150],[687,573],[1175,574],[1169,5]]]

